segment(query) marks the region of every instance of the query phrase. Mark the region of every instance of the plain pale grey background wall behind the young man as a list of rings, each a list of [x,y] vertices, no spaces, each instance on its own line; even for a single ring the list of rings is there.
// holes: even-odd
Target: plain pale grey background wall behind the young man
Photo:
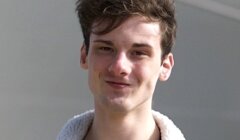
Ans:
[[[54,140],[92,108],[74,3],[0,1],[0,140]],[[239,0],[177,0],[176,65],[154,109],[188,140],[240,137],[239,9]]]

